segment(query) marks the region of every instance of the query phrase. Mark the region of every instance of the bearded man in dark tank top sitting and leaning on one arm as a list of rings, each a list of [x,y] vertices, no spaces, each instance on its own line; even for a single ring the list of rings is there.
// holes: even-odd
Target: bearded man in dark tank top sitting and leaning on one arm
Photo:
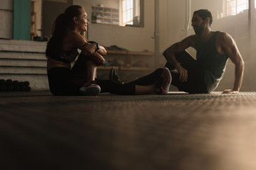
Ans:
[[[211,23],[210,11],[194,11],[192,26],[196,34],[164,51],[166,67],[178,71],[171,72],[171,84],[191,94],[208,94],[217,88],[230,58],[235,64],[235,82],[233,89],[226,89],[223,94],[236,94],[242,84],[245,64],[233,38],[228,33],[212,31]],[[186,52],[188,47],[196,49],[196,60]]]

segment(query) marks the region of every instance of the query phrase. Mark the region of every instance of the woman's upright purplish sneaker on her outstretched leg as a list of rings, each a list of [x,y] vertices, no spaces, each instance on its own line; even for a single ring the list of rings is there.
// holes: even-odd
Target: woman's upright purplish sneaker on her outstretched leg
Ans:
[[[159,81],[156,83],[156,87],[160,89],[158,94],[168,94],[171,84],[171,72],[167,67],[164,68]]]

